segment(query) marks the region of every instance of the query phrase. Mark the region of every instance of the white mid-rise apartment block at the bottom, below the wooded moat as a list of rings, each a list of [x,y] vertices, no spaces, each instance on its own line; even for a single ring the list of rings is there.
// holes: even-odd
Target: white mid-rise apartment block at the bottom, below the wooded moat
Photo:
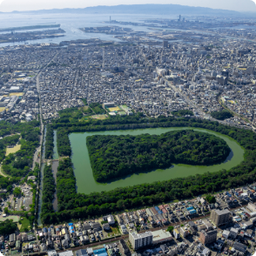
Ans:
[[[152,245],[153,234],[151,231],[143,233],[130,232],[129,240],[133,249],[137,250],[138,248]]]

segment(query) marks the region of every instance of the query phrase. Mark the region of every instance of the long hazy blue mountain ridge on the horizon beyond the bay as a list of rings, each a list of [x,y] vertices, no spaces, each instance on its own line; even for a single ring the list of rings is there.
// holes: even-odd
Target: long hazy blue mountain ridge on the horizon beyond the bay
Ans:
[[[234,10],[220,10],[205,7],[192,7],[179,4],[131,4],[115,6],[95,6],[84,9],[51,9],[51,10],[30,10],[13,11],[12,13],[98,13],[98,14],[151,14],[151,15],[213,15],[213,16],[240,16],[241,13]]]

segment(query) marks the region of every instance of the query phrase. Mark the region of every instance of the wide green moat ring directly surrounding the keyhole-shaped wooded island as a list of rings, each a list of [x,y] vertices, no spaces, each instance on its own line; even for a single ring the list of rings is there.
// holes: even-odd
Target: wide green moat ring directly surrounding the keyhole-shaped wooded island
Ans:
[[[88,149],[86,146],[86,137],[91,135],[139,135],[143,133],[156,134],[167,131],[177,131],[181,129],[192,129],[194,131],[202,131],[223,138],[227,145],[232,149],[230,155],[226,158],[226,161],[219,165],[172,165],[165,170],[155,170],[152,172],[144,172],[139,174],[132,174],[124,179],[118,179],[108,184],[98,183],[95,181],[92,175],[91,163],[89,158]],[[91,193],[110,191],[117,187],[138,185],[142,183],[152,183],[154,181],[164,181],[173,178],[182,178],[197,173],[203,174],[205,172],[218,172],[219,170],[229,170],[232,167],[239,165],[244,160],[244,149],[239,145],[236,140],[223,135],[219,132],[209,131],[200,128],[182,128],[182,127],[169,127],[169,128],[148,128],[137,130],[125,130],[125,131],[96,131],[96,132],[75,132],[70,134],[72,155],[71,160],[74,165],[74,172],[77,179],[77,192]]]

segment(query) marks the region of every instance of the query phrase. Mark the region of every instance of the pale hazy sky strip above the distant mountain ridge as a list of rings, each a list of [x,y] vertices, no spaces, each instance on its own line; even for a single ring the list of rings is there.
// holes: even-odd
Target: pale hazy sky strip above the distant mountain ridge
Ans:
[[[3,0],[0,4],[0,11],[85,8],[97,5],[137,3],[177,3],[190,6],[210,7],[214,9],[256,12],[256,4],[253,0]]]

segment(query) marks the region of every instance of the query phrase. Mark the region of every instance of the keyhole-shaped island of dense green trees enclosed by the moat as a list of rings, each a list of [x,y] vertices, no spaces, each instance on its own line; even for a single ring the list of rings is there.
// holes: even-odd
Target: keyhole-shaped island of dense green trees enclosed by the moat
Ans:
[[[86,138],[86,144],[92,172],[98,182],[172,164],[217,164],[230,153],[222,138],[193,130],[169,131],[161,135],[94,135]]]

